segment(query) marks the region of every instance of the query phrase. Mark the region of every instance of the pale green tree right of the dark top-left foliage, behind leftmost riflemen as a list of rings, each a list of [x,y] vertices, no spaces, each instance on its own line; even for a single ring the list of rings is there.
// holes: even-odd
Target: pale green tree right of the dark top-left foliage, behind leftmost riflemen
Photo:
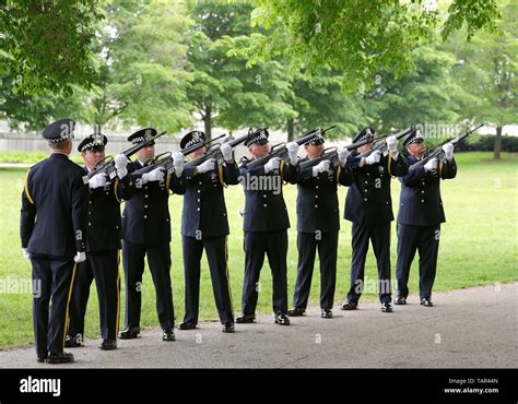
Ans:
[[[183,34],[190,25],[181,3],[113,1],[96,44],[96,82],[78,88],[84,119],[104,126],[114,118],[176,131],[191,121],[186,93]]]

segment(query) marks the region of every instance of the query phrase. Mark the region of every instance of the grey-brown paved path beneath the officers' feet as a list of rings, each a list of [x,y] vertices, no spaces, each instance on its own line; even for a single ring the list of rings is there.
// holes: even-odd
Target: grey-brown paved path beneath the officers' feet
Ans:
[[[434,294],[434,308],[417,296],[393,313],[376,302],[360,310],[334,310],[321,319],[318,309],[292,325],[273,324],[272,316],[258,323],[237,324],[224,334],[216,322],[193,331],[176,331],[176,342],[161,341],[161,330],[119,341],[104,352],[98,341],[70,349],[75,363],[63,367],[99,368],[510,368],[517,358],[518,283]],[[0,367],[48,368],[37,364],[34,348],[0,350]]]

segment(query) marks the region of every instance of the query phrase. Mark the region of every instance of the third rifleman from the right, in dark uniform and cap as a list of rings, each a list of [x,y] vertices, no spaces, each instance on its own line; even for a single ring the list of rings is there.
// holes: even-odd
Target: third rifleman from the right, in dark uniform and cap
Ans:
[[[325,139],[318,134],[304,145],[307,156],[304,163],[323,154]],[[339,164],[322,161],[313,167],[301,168],[297,194],[297,248],[298,270],[290,317],[304,316],[311,288],[315,256],[318,248],[320,258],[320,309],[321,317],[332,318],[334,287],[337,283],[337,250],[340,217],[338,206],[338,183],[344,185],[340,175],[349,151],[338,151]]]

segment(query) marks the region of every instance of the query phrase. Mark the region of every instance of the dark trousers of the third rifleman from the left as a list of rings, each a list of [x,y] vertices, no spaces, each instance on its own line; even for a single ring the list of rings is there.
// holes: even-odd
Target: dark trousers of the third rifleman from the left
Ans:
[[[195,237],[184,236],[184,272],[186,277],[186,314],[185,322],[198,323],[200,306],[200,261],[203,248],[212,277],[212,290],[220,314],[224,324],[234,322],[232,310],[232,293],[228,280],[228,253],[226,249],[226,236],[203,238],[197,240]]]

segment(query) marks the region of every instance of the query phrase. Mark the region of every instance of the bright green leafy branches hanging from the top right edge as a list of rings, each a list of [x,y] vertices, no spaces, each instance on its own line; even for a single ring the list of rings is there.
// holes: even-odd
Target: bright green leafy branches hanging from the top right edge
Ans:
[[[379,70],[397,78],[414,67],[412,50],[439,20],[434,1],[415,0],[257,0],[252,23],[271,28],[258,38],[250,63],[284,55],[295,70],[328,66],[342,70],[350,90],[370,87]],[[468,36],[494,29],[495,0],[452,0],[442,25],[444,37],[464,23]]]

